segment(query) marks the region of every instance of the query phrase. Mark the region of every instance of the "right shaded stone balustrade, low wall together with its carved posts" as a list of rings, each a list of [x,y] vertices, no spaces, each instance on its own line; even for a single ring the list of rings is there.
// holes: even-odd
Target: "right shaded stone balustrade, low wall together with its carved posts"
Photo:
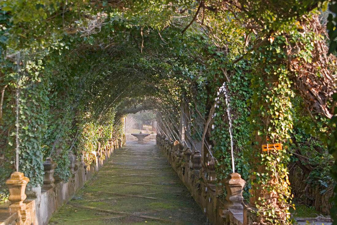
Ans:
[[[223,181],[227,196],[225,199],[218,198],[214,157],[203,168],[200,149],[192,151],[184,143],[170,142],[169,138],[159,133],[156,144],[212,224],[243,225],[242,190],[245,181],[240,174],[232,173]]]

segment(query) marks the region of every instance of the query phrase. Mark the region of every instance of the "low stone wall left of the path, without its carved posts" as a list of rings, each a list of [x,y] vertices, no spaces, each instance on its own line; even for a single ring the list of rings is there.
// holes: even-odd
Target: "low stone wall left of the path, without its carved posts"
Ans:
[[[95,156],[95,164],[85,165],[83,162],[77,161],[68,182],[60,181],[49,189],[35,188],[34,191],[26,191],[25,212],[15,211],[10,213],[8,210],[10,202],[0,205],[0,225],[47,224],[52,214],[69,201],[75,192],[81,189],[86,181],[123,145],[125,145],[125,139],[101,148],[101,151]],[[101,160],[103,154],[105,159]]]

